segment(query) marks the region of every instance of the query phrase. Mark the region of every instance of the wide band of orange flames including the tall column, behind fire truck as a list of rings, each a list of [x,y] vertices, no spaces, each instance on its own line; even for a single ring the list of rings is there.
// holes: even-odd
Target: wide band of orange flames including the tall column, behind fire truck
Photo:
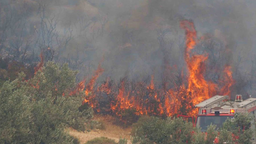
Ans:
[[[125,111],[133,111],[135,115],[193,116],[197,114],[194,105],[199,102],[215,94],[230,95],[231,86],[235,83],[231,66],[225,67],[221,86],[205,80],[205,62],[208,54],[200,55],[193,52],[198,41],[194,24],[192,21],[184,20],[180,22],[180,28],[185,30],[186,36],[184,60],[187,65],[187,83],[174,86],[172,89],[166,89],[165,86],[156,88],[152,75],[149,84],[132,83],[124,78],[115,85],[110,78],[107,78],[104,83],[96,87],[95,82],[104,71],[99,64],[86,86],[83,80],[70,95],[85,88],[83,104],[89,104],[95,112],[114,114],[120,118]]]

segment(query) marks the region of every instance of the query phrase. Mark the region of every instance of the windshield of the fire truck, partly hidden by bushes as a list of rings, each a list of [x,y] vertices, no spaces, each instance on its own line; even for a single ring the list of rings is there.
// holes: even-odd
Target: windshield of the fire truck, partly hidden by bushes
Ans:
[[[196,125],[201,127],[202,132],[206,132],[207,127],[212,125],[216,125],[216,129],[220,128],[222,124],[228,118],[233,118],[233,116],[198,116]]]

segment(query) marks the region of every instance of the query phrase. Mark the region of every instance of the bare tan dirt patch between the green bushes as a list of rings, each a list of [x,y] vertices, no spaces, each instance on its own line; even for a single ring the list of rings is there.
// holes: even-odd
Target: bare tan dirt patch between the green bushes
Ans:
[[[104,118],[97,117],[95,119],[102,120]],[[83,133],[83,132],[77,132],[76,130],[70,129],[69,133],[72,136],[77,137],[80,140],[81,144],[84,144],[88,140],[91,140],[96,137],[108,137],[115,140],[115,142],[118,142],[119,138],[126,138],[128,140],[127,144],[131,144],[131,141],[130,141],[131,128],[122,129],[121,127],[113,125],[111,122],[107,122],[105,120],[104,120],[104,123],[105,123],[105,130],[95,129],[95,130],[91,130],[90,132]]]

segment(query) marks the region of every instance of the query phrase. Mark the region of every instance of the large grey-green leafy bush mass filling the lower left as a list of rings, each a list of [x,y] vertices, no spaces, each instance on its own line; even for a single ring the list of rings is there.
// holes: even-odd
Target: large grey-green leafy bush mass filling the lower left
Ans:
[[[48,62],[28,81],[20,73],[13,82],[4,82],[0,87],[0,143],[79,143],[64,129],[85,131],[92,110],[80,111],[80,96],[68,96],[76,85],[75,76],[68,65]]]

